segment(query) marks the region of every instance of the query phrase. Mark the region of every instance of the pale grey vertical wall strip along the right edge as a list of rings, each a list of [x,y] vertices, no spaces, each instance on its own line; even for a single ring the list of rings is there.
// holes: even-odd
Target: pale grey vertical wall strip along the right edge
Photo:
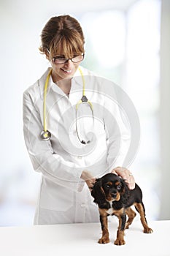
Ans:
[[[170,219],[170,1],[162,1],[161,19],[161,212]]]

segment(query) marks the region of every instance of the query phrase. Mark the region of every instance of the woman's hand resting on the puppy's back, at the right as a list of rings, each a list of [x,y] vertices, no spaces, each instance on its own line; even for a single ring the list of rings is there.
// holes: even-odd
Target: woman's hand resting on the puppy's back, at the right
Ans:
[[[131,171],[125,167],[115,167],[111,173],[115,173],[125,180],[125,183],[128,185],[129,189],[135,188],[135,180]]]

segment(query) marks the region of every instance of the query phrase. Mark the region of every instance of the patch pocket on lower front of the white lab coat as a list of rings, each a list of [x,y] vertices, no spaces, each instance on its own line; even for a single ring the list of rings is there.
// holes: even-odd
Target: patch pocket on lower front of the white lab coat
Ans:
[[[68,211],[73,206],[73,194],[72,190],[43,178],[39,207],[52,211]]]

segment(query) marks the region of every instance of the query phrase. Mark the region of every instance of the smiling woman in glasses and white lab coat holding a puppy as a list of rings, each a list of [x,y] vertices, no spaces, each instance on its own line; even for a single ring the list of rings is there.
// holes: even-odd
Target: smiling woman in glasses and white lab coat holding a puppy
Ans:
[[[34,224],[98,222],[90,195],[96,177],[112,171],[134,188],[131,172],[117,167],[128,132],[120,128],[114,95],[107,97],[112,82],[80,67],[80,23],[69,15],[50,18],[41,39],[50,67],[23,94],[26,147],[34,170],[42,173]]]

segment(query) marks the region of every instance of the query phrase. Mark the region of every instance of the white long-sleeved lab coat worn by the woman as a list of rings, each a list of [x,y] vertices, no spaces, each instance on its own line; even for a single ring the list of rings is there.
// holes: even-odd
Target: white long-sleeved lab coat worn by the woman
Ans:
[[[69,97],[53,83],[52,78],[49,80],[46,118],[47,129],[52,136],[48,141],[42,140],[40,133],[43,130],[43,93],[49,69],[23,94],[26,147],[34,170],[42,173],[35,225],[98,222],[98,208],[85,181],[80,178],[82,170],[89,170],[95,177],[101,176],[122,165],[128,150],[129,134],[121,123],[117,105],[112,97],[109,99],[104,94],[104,87],[107,89],[109,84],[110,88],[112,82],[81,69],[85,78],[85,94],[93,103],[95,118],[93,122],[87,105],[80,105],[77,126],[82,139],[88,136],[88,132],[93,132],[96,137],[90,138],[95,143],[82,145],[77,139],[75,108],[82,97],[79,70],[72,78]],[[117,121],[109,115],[116,116]],[[110,135],[109,128],[119,122],[119,129],[115,127]]]

